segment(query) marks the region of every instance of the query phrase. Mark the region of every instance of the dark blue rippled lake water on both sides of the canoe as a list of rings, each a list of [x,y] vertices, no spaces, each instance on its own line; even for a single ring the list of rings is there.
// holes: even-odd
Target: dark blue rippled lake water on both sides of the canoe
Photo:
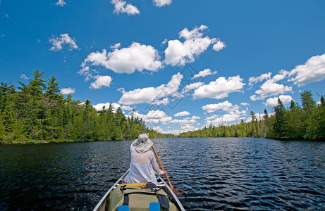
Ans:
[[[325,142],[154,139],[186,210],[325,210]],[[0,146],[0,210],[92,210],[131,141]]]

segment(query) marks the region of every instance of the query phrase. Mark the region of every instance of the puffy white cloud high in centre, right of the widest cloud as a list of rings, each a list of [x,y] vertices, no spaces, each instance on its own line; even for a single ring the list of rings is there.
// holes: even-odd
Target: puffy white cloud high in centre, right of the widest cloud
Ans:
[[[179,37],[183,37],[184,42],[178,39],[169,40],[168,47],[165,50],[164,63],[176,66],[193,62],[195,57],[206,51],[210,44],[218,41],[216,38],[203,37],[202,31],[207,30],[207,28],[205,25],[195,27],[192,31],[185,28],[179,32]]]

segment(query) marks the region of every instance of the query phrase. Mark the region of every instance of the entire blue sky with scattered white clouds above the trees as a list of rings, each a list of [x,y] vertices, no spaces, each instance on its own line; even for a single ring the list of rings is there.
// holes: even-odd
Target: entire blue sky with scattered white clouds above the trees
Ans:
[[[325,1],[0,1],[1,82],[135,108],[160,132],[250,120],[324,94]]]

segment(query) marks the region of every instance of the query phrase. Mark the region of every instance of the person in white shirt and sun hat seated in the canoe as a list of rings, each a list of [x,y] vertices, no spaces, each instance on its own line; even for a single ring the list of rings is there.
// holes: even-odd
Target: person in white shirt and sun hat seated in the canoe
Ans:
[[[130,146],[131,161],[130,170],[126,175],[125,183],[152,182],[157,184],[155,172],[159,175],[166,175],[166,171],[161,171],[157,163],[152,148],[152,141],[149,134],[140,134]]]

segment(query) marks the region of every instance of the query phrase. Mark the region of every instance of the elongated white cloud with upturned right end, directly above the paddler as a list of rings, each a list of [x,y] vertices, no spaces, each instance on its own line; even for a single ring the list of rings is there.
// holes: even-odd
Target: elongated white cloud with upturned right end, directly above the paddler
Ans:
[[[138,103],[166,103],[166,97],[176,96],[178,93],[178,87],[183,75],[179,72],[171,77],[168,84],[161,84],[159,87],[147,87],[143,89],[134,89],[132,91],[124,91],[118,103],[124,105],[133,105]],[[159,101],[160,98],[164,98]]]

